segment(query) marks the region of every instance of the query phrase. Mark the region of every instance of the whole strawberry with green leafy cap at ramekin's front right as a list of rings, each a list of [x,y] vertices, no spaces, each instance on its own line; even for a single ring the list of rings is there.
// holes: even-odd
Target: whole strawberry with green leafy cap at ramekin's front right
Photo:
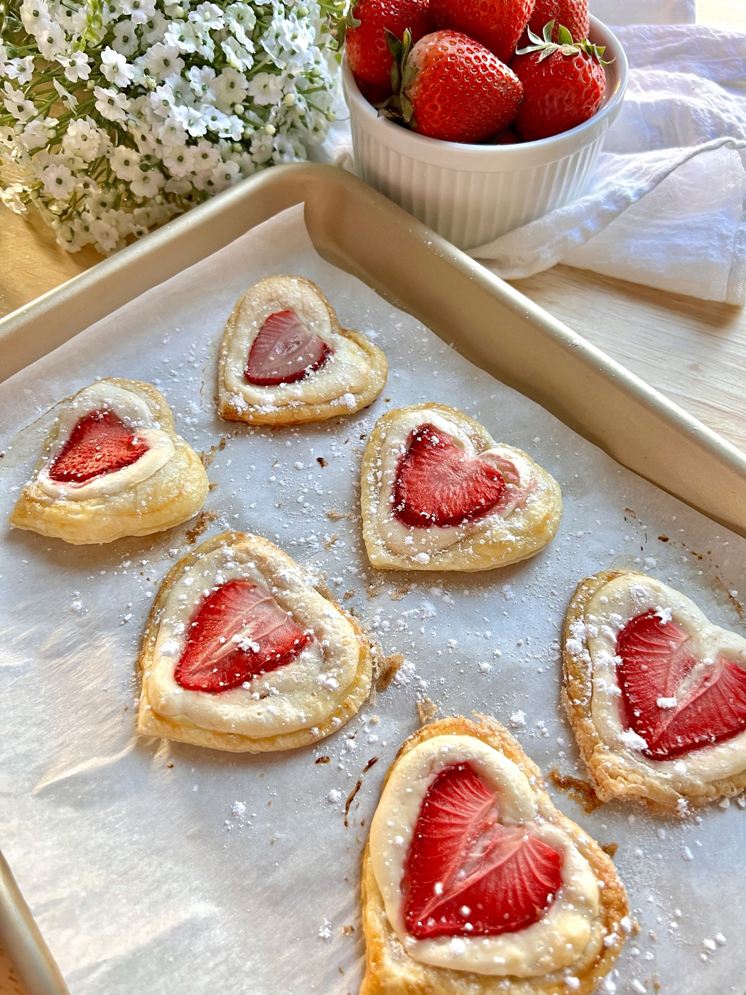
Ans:
[[[523,84],[523,102],[513,127],[523,141],[548,138],[582,124],[601,106],[606,91],[603,48],[590,42],[572,44],[560,28],[560,42],[551,39],[553,22],[542,41],[529,31],[531,45],[519,49],[510,68]]]

